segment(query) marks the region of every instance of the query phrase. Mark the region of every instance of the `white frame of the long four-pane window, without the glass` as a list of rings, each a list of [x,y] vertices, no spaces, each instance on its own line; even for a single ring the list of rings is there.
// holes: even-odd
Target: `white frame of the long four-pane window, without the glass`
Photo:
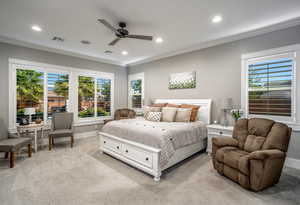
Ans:
[[[47,117],[47,104],[48,104],[48,73],[58,73],[58,74],[67,74],[69,76],[69,106],[67,107],[68,112],[74,113],[74,125],[75,126],[83,126],[83,125],[92,125],[98,124],[105,119],[111,119],[114,115],[114,73],[108,72],[99,72],[95,70],[88,69],[80,69],[74,67],[65,67],[51,64],[44,64],[32,61],[25,61],[20,59],[9,58],[9,130],[16,129],[16,114],[17,114],[17,80],[16,74],[17,69],[27,69],[27,70],[35,70],[39,72],[43,72],[44,75],[44,123],[46,126],[50,126],[51,120]],[[79,118],[78,117],[78,77],[79,75],[84,76],[93,76],[96,78],[104,78],[111,80],[111,115],[110,116],[100,116],[97,117],[89,117],[88,119]],[[95,86],[96,90],[96,86]],[[96,93],[95,93],[96,100]],[[96,101],[95,101],[96,102]]]

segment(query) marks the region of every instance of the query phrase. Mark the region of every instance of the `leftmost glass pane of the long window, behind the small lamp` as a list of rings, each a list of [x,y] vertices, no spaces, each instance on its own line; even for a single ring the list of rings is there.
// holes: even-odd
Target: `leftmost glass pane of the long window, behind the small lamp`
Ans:
[[[17,123],[28,118],[25,108],[35,108],[32,121],[44,118],[44,74],[34,70],[17,69]]]

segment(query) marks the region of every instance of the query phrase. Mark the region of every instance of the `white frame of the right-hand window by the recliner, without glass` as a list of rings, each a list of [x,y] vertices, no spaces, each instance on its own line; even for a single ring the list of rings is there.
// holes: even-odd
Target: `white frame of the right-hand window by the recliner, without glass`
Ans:
[[[298,55],[297,55],[298,54]],[[286,46],[276,49],[270,49],[255,53],[243,54],[241,59],[242,70],[241,70],[241,107],[245,111],[245,117],[262,117],[271,120],[275,120],[278,122],[286,123],[291,126],[293,129],[300,130],[300,112],[299,108],[297,108],[297,104],[300,103],[300,83],[296,81],[296,79],[300,79],[299,72],[297,72],[297,62],[300,62],[299,58],[300,54],[300,44]],[[279,58],[290,58],[293,60],[293,70],[292,70],[292,90],[291,90],[291,116],[276,116],[276,115],[257,115],[257,114],[249,114],[249,97],[248,97],[248,69],[249,65],[266,61],[272,59]]]

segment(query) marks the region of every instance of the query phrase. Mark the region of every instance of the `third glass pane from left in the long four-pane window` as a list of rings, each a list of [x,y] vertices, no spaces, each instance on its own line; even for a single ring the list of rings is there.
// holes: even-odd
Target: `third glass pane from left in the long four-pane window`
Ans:
[[[92,77],[78,77],[78,116],[94,117],[95,81]]]

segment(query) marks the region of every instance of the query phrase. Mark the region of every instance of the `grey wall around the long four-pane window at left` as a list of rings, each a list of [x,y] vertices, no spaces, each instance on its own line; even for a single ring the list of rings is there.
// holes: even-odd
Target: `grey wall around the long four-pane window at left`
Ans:
[[[111,72],[115,74],[115,108],[127,107],[127,69],[96,61],[60,55],[37,49],[0,43],[0,118],[8,126],[8,59],[17,58],[53,65]],[[95,126],[78,127],[77,132],[91,131]]]

